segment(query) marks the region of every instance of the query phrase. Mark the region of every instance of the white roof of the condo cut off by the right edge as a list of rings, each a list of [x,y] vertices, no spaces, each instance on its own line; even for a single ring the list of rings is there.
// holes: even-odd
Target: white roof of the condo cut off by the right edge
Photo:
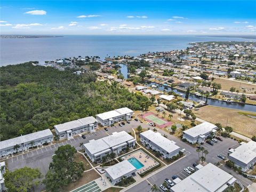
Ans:
[[[249,141],[244,143],[243,145],[234,149],[234,152],[229,156],[245,164],[250,163],[254,158],[256,158],[256,142]]]

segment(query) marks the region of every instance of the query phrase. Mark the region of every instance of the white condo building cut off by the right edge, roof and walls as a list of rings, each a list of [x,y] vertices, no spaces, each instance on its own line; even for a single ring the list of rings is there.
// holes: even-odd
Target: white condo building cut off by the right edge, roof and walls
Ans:
[[[230,161],[234,162],[235,166],[241,167],[242,171],[247,171],[256,163],[256,142],[243,143],[236,149],[230,149],[229,153]]]

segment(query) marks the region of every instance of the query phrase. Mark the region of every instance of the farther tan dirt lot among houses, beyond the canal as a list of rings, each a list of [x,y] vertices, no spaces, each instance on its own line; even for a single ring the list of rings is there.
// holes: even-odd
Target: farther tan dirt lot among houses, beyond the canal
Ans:
[[[242,87],[245,88],[245,93],[254,93],[256,91],[256,85],[253,84],[247,84],[247,83],[240,83],[236,81],[231,81],[228,79],[214,79],[214,82],[221,84],[221,90],[229,91],[230,87],[235,87],[239,90],[240,93],[243,93],[244,89],[241,89]]]

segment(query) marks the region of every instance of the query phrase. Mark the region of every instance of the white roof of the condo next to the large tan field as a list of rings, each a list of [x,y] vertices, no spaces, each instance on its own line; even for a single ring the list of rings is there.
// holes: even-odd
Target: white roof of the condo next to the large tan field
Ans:
[[[191,137],[195,138],[198,137],[199,135],[204,135],[206,133],[209,133],[210,131],[212,131],[213,129],[216,129],[217,126],[209,123],[209,122],[204,122],[201,123],[199,125],[196,125],[186,131],[183,131],[183,133],[186,133],[188,135],[190,135]]]

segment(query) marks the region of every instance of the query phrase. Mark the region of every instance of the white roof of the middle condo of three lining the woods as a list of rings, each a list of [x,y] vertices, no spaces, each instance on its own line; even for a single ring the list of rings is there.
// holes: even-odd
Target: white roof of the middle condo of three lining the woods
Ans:
[[[95,123],[95,122],[98,122],[97,119],[90,116],[90,117],[77,119],[75,121],[70,121],[70,122],[67,122],[67,123],[54,125],[54,128],[57,129],[58,132],[60,133],[60,132],[68,131],[68,130],[71,130],[71,129],[76,129],[78,127],[90,125],[90,124]]]

